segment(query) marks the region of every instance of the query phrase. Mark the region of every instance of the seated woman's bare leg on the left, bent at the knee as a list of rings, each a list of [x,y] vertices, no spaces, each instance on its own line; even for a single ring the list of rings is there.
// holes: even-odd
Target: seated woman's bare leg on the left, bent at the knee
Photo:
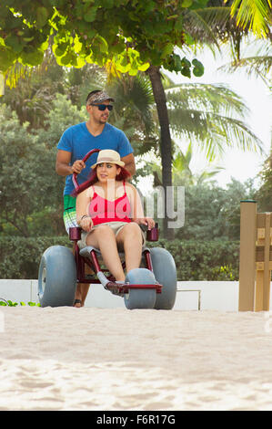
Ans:
[[[116,235],[108,225],[99,225],[86,237],[86,245],[98,248],[104,263],[116,280],[124,281],[125,273],[116,245]]]

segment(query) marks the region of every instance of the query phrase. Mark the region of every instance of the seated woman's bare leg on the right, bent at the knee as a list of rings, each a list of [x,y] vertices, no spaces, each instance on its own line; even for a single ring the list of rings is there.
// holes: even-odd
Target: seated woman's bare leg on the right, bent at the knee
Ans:
[[[116,235],[117,245],[123,246],[126,258],[126,272],[140,267],[142,258],[143,236],[140,226],[136,222],[130,222]]]

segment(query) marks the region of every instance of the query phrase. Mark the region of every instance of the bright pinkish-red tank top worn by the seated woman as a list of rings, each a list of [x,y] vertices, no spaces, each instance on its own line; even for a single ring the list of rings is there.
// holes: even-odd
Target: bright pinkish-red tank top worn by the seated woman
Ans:
[[[106,200],[103,196],[96,194],[95,188],[92,186],[94,196],[89,204],[88,213],[92,217],[94,225],[106,222],[131,222],[129,218],[131,207],[126,195],[125,182],[123,185],[125,194],[114,201]]]

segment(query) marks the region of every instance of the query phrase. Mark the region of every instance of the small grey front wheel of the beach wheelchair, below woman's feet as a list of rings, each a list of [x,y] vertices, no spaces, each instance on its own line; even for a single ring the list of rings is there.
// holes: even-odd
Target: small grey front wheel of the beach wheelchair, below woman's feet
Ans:
[[[155,285],[154,274],[146,268],[135,268],[126,274],[130,285]],[[156,288],[130,288],[124,296],[126,309],[154,309]]]

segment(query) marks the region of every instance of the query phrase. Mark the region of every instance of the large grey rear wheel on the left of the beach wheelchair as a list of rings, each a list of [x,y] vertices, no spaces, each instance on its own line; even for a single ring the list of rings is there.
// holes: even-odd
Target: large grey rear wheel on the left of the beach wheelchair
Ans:
[[[65,246],[45,250],[39,266],[38,297],[41,307],[73,306],[76,293],[76,261]]]

